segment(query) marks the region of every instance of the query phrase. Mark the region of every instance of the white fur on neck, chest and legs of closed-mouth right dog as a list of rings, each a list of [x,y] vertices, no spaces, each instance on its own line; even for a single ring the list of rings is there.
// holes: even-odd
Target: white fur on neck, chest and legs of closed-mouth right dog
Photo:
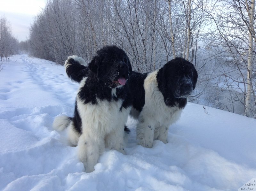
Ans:
[[[145,104],[136,128],[138,143],[148,148],[152,148],[156,139],[164,143],[168,142],[169,126],[180,118],[182,112],[177,106],[165,105],[164,96],[157,85],[157,72],[158,70],[148,74],[144,80]]]

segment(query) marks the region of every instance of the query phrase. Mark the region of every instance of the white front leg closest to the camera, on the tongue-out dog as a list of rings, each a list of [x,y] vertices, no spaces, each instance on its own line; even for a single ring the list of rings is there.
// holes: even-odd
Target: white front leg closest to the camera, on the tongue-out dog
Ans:
[[[103,138],[91,137],[90,133],[84,132],[78,140],[78,158],[84,164],[85,172],[94,171],[100,154],[104,151]]]

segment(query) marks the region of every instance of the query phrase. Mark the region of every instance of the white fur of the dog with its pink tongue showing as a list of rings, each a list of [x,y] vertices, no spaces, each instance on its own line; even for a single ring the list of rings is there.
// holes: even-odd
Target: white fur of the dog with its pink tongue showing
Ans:
[[[86,83],[84,78],[80,88]],[[79,91],[79,90],[78,90]],[[116,88],[112,89],[112,96],[116,96]],[[123,100],[97,100],[97,104],[86,103],[79,96],[76,98],[77,110],[82,119],[82,134],[74,130],[73,122],[67,116],[59,116],[53,122],[55,130],[63,130],[68,125],[68,141],[72,146],[78,146],[78,158],[83,162],[85,172],[94,171],[94,166],[105,148],[115,149],[123,154],[124,125],[131,107],[120,107]]]

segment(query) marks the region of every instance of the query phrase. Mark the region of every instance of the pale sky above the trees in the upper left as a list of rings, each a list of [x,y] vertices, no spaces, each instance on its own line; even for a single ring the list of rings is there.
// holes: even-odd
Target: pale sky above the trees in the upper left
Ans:
[[[46,0],[0,0],[0,17],[5,16],[12,27],[12,34],[19,41],[29,35],[28,27],[33,16],[44,8]]]

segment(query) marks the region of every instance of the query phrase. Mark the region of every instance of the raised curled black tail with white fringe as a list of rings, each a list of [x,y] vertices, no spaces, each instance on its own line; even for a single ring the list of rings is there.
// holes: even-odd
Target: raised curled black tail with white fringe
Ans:
[[[68,77],[73,81],[79,83],[84,77],[88,76],[89,68],[82,57],[76,55],[69,56],[64,66]]]

